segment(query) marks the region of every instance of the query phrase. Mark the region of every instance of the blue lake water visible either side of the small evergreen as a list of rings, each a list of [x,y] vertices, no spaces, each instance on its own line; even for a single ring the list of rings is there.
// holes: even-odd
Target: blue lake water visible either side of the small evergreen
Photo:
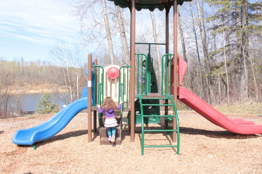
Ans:
[[[52,94],[51,94],[52,95]],[[59,95],[64,95],[63,93]],[[23,94],[21,96],[21,108],[23,111],[36,111],[38,101],[41,100],[42,94]],[[59,110],[63,109],[63,105],[66,105],[63,101],[53,99],[53,103],[57,104]]]

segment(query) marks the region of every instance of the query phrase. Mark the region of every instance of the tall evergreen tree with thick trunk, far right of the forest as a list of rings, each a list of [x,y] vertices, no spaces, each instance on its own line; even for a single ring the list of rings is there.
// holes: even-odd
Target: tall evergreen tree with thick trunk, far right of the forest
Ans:
[[[248,98],[248,70],[250,60],[249,41],[254,35],[261,34],[261,2],[248,0],[209,0],[216,5],[217,11],[209,20],[216,20],[215,32],[225,33],[226,49],[230,61],[234,63],[239,83],[239,100]],[[219,50],[217,50],[219,52]]]

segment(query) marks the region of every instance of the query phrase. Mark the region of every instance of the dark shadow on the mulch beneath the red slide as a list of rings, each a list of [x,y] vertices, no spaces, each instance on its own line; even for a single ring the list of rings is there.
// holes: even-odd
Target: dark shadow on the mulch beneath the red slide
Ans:
[[[179,127],[181,134],[188,134],[188,135],[205,135],[210,138],[224,138],[224,139],[250,139],[250,138],[257,138],[258,135],[251,134],[251,135],[243,135],[243,134],[236,134],[227,130],[222,131],[214,131],[214,130],[204,130],[204,129],[195,129],[195,128],[186,128],[186,127]]]

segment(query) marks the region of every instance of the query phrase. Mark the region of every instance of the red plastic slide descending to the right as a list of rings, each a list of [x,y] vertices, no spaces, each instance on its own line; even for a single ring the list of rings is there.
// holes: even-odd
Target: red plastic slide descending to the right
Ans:
[[[179,87],[177,87],[177,95],[180,101],[191,107],[194,111],[208,119],[210,122],[228,131],[237,134],[262,134],[262,125],[255,125],[254,122],[245,121],[242,118],[227,118],[189,89],[182,87],[183,77],[187,70],[187,63],[182,59],[181,55],[178,55],[177,70],[179,82]],[[171,79],[173,79],[172,75],[173,60],[171,65]],[[173,83],[172,80],[171,83]],[[172,89],[173,88],[171,88],[171,93],[173,93]]]

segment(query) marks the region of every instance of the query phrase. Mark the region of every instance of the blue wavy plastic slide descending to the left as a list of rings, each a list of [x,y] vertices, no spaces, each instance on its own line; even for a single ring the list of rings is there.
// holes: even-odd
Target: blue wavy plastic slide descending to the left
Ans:
[[[70,103],[52,118],[38,126],[15,132],[13,143],[16,145],[33,145],[46,140],[60,132],[80,111],[88,108],[88,87],[82,92],[82,98]],[[92,73],[92,106],[94,105],[94,74]]]

